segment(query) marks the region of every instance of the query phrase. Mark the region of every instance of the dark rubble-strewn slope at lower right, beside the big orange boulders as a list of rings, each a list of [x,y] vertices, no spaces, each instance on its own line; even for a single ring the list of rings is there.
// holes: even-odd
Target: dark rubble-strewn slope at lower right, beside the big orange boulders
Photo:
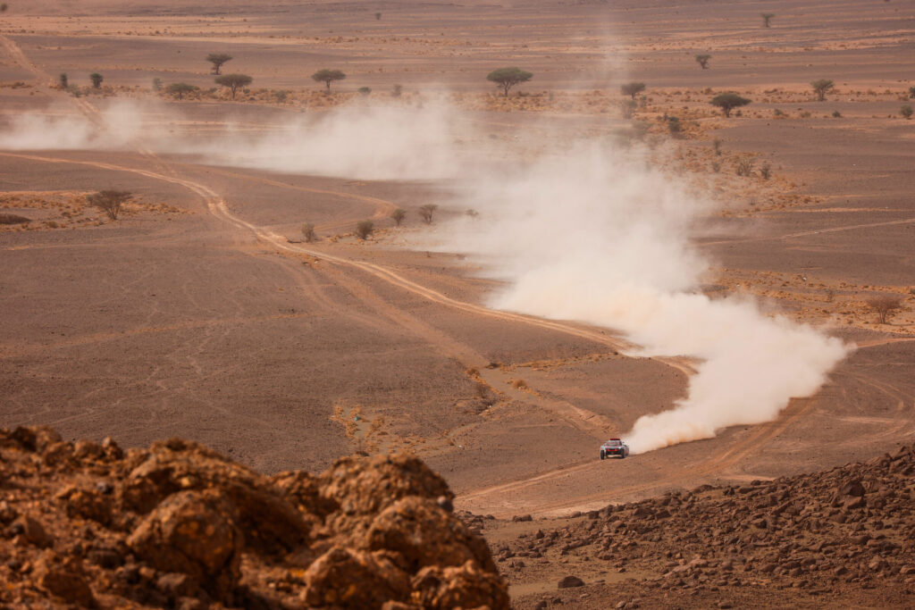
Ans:
[[[915,606],[913,447],[565,525],[519,517],[501,526],[511,537],[491,519],[462,518],[486,531],[520,608]]]

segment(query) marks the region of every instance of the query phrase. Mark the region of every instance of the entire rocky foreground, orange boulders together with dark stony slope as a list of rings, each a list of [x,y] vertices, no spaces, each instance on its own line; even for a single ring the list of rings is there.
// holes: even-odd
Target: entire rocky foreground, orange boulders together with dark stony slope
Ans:
[[[0,607],[499,610],[506,579],[517,608],[915,605],[913,447],[572,519],[452,499],[409,455],[262,476],[178,439],[0,430]]]

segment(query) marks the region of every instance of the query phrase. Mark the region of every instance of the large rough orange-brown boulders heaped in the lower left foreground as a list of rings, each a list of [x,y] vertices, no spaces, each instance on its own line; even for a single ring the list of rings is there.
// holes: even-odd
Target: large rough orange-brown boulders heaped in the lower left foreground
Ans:
[[[452,498],[408,455],[261,476],[178,439],[0,430],[0,605],[507,608]]]

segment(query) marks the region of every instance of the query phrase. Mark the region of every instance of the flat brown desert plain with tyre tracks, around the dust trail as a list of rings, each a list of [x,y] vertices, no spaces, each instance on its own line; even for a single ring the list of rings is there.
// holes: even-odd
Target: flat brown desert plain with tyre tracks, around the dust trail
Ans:
[[[608,504],[892,452],[915,433],[915,122],[900,115],[915,102],[913,51],[915,8],[899,0],[11,1],[0,134],[25,115],[102,131],[112,102],[153,110],[113,146],[73,144],[50,123],[35,144],[0,146],[0,212],[27,219],[0,225],[0,425],[125,446],[181,436],[265,474],[409,450],[447,479],[457,508],[496,518],[490,545]],[[211,52],[233,56],[223,72],[253,77],[234,100],[213,84]],[[502,97],[485,77],[513,65],[533,79]],[[322,68],[347,78],[326,92],[310,78]],[[154,79],[198,89],[178,100]],[[822,102],[817,79],[834,80]],[[630,80],[647,85],[635,127],[620,111]],[[725,118],[709,104],[721,91],[752,103]],[[566,135],[647,143],[660,172],[715,202],[689,227],[708,262],[698,293],[744,294],[855,348],[769,421],[601,461],[602,441],[684,399],[696,361],[640,356],[612,325],[491,306],[511,277],[429,245],[465,215],[459,180],[151,144],[442,100],[463,122],[448,137],[473,150],[519,138],[549,149]],[[493,150],[479,163],[501,164]],[[117,219],[88,203],[102,189],[134,195]],[[429,225],[427,204],[438,206]],[[375,232],[363,241],[365,219]],[[868,305],[877,295],[901,303],[886,323]],[[522,515],[533,525],[511,521]],[[507,574],[522,607],[554,587],[553,565]]]

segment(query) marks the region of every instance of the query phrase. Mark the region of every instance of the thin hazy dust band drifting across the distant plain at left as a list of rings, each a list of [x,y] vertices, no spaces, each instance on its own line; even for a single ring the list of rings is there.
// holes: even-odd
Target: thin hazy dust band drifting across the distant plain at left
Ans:
[[[252,120],[196,121],[161,102],[97,102],[97,114],[66,104],[8,118],[7,150],[130,150],[189,155],[221,166],[361,179],[455,177],[463,155],[458,113],[353,103],[328,112],[266,111]],[[469,157],[468,157],[469,158]]]

